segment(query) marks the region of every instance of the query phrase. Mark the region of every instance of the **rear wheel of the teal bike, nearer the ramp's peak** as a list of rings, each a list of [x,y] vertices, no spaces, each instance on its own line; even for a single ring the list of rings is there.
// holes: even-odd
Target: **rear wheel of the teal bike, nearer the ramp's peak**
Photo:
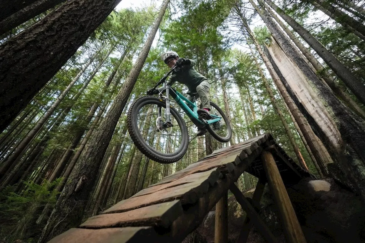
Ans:
[[[232,137],[231,125],[226,115],[224,115],[224,112],[218,107],[218,105],[216,105],[212,101],[210,101],[210,105],[212,108],[210,113],[212,115],[220,116],[222,117],[222,119],[215,123],[208,124],[207,130],[213,136],[213,138],[215,138],[219,142],[228,142]]]

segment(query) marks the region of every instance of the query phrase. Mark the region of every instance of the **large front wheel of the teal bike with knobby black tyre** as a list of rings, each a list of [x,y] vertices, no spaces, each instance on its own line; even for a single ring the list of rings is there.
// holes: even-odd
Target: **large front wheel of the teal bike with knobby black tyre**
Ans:
[[[127,115],[128,131],[135,146],[159,163],[173,163],[185,155],[189,135],[183,118],[170,107],[166,126],[166,103],[154,96],[136,100]]]

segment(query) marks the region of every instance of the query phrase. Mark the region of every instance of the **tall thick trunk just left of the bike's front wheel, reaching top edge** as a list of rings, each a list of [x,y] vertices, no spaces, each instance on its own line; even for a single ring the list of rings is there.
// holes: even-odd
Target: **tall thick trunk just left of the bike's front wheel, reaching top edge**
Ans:
[[[112,3],[117,2],[118,1],[112,1]],[[110,1],[103,1],[103,4],[105,3],[108,5],[110,4]],[[70,227],[76,227],[81,223],[87,198],[89,197],[89,193],[95,183],[97,170],[99,169],[105,151],[107,150],[108,144],[112,138],[119,117],[123,112],[128,97],[135,82],[137,81],[139,73],[141,72],[143,63],[147,58],[153,39],[157,33],[168,4],[169,0],[165,0],[162,4],[154,26],[152,27],[145,45],[143,46],[143,49],[132,67],[126,81],[124,81],[122,89],[120,89],[110,110],[101,122],[95,136],[85,148],[82,159],[74,167],[73,173],[70,175],[70,183],[65,185],[64,190],[62,191],[62,194],[59,197],[45,228],[43,229],[39,243],[46,242],[51,239],[54,234],[63,232]],[[62,7],[65,5],[68,4],[66,3],[62,5]],[[80,19],[80,16],[77,16],[77,18]],[[93,18],[95,18],[95,16],[93,16]],[[78,33],[78,35],[80,35],[80,33]],[[63,219],[62,222],[59,222],[59,219]]]

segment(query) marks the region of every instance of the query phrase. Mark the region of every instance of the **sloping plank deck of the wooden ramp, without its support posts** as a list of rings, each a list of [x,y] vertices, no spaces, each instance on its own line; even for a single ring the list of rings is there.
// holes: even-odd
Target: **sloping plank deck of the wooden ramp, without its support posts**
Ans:
[[[285,185],[310,176],[285,154],[270,134],[264,134],[215,150],[50,242],[181,242],[243,171],[260,178],[259,182],[266,181],[261,160],[264,150],[273,155]]]

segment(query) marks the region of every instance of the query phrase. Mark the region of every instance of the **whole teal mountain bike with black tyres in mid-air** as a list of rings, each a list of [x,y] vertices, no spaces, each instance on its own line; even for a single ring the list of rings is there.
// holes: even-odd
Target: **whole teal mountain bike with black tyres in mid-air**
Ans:
[[[132,103],[127,114],[127,126],[132,142],[146,157],[159,163],[176,162],[187,152],[188,128],[181,114],[185,119],[190,119],[196,127],[206,129],[219,142],[228,142],[232,136],[230,123],[218,105],[210,102],[210,119],[199,117],[195,99],[197,93],[187,93],[193,97],[190,101],[167,84],[167,77],[179,69],[177,66],[172,67],[147,91],[147,96]],[[160,85],[163,87],[157,88]],[[172,106],[170,96],[180,108]]]

